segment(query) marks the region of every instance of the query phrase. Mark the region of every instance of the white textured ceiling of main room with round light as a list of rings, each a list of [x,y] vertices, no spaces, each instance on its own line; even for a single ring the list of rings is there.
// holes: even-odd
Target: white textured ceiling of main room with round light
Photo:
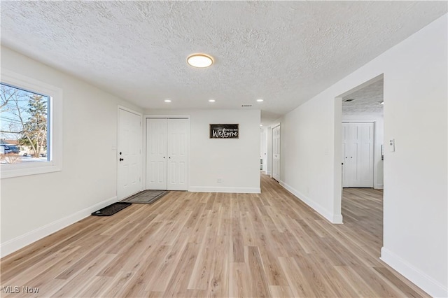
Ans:
[[[267,123],[446,12],[444,1],[1,1],[1,43],[142,108],[252,104]],[[195,52],[214,65],[188,66]]]

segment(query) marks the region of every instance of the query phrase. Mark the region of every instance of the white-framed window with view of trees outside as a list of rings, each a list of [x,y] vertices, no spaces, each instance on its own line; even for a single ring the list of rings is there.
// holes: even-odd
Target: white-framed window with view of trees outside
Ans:
[[[1,178],[60,171],[62,90],[2,69]]]

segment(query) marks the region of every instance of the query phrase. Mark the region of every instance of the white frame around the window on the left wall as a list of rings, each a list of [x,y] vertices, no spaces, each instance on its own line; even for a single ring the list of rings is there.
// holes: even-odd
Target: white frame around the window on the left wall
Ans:
[[[1,179],[62,171],[62,89],[8,69],[1,69],[0,81],[13,87],[50,97],[50,112],[48,113],[50,160],[46,162],[1,164]]]

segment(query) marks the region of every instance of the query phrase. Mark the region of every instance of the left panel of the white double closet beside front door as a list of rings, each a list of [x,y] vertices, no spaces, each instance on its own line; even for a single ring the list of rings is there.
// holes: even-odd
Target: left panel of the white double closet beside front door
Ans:
[[[167,190],[167,119],[146,120],[146,189]]]

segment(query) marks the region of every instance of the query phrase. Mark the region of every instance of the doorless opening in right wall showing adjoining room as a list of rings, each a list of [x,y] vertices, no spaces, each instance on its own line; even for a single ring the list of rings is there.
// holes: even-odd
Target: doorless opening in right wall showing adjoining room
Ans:
[[[335,165],[341,166],[335,171],[335,206],[345,223],[363,218],[364,211],[382,219],[383,90],[381,74],[335,99]],[[381,220],[373,232],[382,243]]]

